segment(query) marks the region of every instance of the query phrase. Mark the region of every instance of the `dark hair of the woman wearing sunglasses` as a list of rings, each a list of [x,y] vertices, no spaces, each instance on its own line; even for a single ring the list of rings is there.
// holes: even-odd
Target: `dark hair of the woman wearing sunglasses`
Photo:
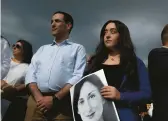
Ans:
[[[33,49],[32,49],[32,45],[23,39],[18,40],[17,42],[20,42],[22,44],[23,47],[23,61],[22,63],[27,63],[30,64],[32,56],[33,56]]]

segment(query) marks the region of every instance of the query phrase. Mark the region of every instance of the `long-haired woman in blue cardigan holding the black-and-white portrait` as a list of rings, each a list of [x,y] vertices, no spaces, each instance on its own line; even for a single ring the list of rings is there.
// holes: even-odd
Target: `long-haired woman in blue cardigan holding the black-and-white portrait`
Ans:
[[[121,121],[138,121],[138,105],[151,96],[147,69],[135,52],[128,27],[109,20],[101,29],[100,43],[85,74],[104,69],[109,86],[101,95],[115,101]]]

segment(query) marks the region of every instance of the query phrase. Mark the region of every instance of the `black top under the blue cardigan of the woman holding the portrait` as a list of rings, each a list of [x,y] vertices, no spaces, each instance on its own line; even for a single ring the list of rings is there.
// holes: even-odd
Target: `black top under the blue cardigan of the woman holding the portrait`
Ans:
[[[121,65],[101,64],[98,69],[104,70],[108,85],[114,86],[117,89],[120,88],[124,76],[124,69]]]

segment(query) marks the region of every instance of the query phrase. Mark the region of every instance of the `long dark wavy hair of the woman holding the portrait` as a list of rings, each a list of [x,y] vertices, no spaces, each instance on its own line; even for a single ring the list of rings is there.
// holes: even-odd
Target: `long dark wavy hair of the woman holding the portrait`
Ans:
[[[118,20],[109,20],[103,25],[100,33],[100,42],[96,48],[95,54],[91,57],[90,65],[85,74],[96,71],[97,67],[108,58],[110,50],[104,44],[104,35],[105,28],[109,23],[114,23],[119,33],[119,40],[115,48],[120,52],[120,65],[124,66],[124,73],[127,80],[128,78],[129,80],[134,80],[131,82],[131,85],[134,85],[133,88],[137,90],[139,88],[137,57],[128,27]]]

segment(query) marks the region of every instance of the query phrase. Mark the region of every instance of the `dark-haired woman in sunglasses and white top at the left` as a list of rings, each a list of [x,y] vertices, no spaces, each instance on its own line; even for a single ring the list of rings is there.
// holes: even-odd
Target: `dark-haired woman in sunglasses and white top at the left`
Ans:
[[[32,45],[26,40],[18,40],[12,48],[13,57],[11,58],[9,72],[6,77],[1,80],[1,82],[3,82],[1,83],[2,115],[4,115],[8,109],[3,121],[19,121],[24,119],[24,111],[26,108],[25,96],[27,95],[24,81],[28,65],[33,56]],[[8,101],[11,102],[10,105]]]

